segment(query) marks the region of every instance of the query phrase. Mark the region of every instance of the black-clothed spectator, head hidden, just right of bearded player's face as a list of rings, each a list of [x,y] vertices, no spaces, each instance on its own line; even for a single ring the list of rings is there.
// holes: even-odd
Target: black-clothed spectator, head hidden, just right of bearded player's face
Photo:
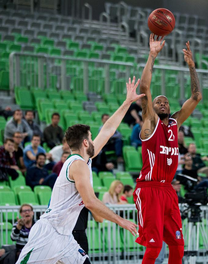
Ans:
[[[98,155],[92,159],[92,171],[96,173],[100,171],[113,171],[113,162],[107,162],[106,154],[101,150]]]

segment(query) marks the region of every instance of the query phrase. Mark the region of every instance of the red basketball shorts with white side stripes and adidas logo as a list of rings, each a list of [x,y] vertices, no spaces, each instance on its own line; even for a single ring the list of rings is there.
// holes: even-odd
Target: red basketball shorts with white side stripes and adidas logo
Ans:
[[[178,197],[171,183],[138,182],[133,193],[139,219],[136,242],[145,247],[184,245]]]

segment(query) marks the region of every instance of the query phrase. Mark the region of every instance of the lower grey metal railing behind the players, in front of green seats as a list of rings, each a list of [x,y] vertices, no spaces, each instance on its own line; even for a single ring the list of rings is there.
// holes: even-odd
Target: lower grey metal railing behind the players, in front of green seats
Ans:
[[[186,205],[180,205],[181,210],[185,209]],[[134,204],[126,205],[108,205],[118,215],[130,219],[131,221],[138,223],[138,214]],[[0,242],[2,244],[8,243],[8,237],[11,232],[11,224],[14,224],[17,216],[19,216],[20,206],[0,206]],[[33,206],[34,219],[38,220],[39,216],[43,214],[47,206]],[[186,209],[187,210],[187,209]],[[189,249],[189,245],[186,244],[190,234],[188,232],[189,223],[187,221],[191,211],[188,210],[187,218],[183,223],[183,234],[185,241],[185,249]],[[201,217],[203,222],[204,233],[208,234],[208,206],[201,206]],[[3,224],[4,223],[4,224]],[[194,225],[195,226],[195,225]],[[195,229],[193,228],[192,232]],[[143,258],[145,247],[135,243],[136,237],[122,229],[120,226],[110,221],[104,220],[103,223],[97,223],[92,218],[91,214],[88,217],[87,226],[87,238],[89,244],[89,257],[91,263],[136,263],[139,259]],[[206,238],[207,239],[207,238]],[[197,240],[194,243],[202,243]],[[14,243],[13,243],[14,244]],[[197,260],[205,261],[207,259],[206,248],[200,244],[197,251]],[[165,257],[168,256],[168,248],[166,247]],[[203,262],[205,263],[205,262]]]

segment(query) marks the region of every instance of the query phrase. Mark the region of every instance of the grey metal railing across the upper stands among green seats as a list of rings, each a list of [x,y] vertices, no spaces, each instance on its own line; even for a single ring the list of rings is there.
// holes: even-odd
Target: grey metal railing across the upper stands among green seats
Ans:
[[[70,90],[75,87],[74,83],[81,79],[83,88],[82,92],[97,93],[113,93],[112,84],[117,80],[122,80],[123,86],[119,93],[125,93],[125,81],[129,76],[141,77],[142,69],[145,64],[125,63],[120,61],[108,61],[101,59],[74,58],[63,56],[48,56],[46,54],[22,54],[13,52],[9,56],[9,86],[13,92],[15,87],[39,87],[41,89],[50,89],[54,86],[60,90]],[[70,73],[70,69],[76,70],[76,73]],[[185,98],[184,84],[189,77],[188,67],[173,67],[166,65],[154,65],[154,69],[158,69],[160,76],[160,94],[166,95],[165,81],[167,72],[177,75],[178,84],[180,85],[180,99]],[[93,70],[102,70],[103,76],[91,73]],[[81,72],[79,72],[81,71]],[[111,73],[115,75],[112,78]],[[197,69],[199,81],[202,89],[208,87],[208,70]],[[154,75],[153,71],[153,75]],[[157,77],[158,77],[157,76]],[[53,78],[52,78],[53,77]],[[90,82],[90,80],[98,80],[99,82]],[[100,84],[100,81],[103,81]],[[77,89],[77,88],[76,88]],[[154,86],[152,87],[154,89]]]

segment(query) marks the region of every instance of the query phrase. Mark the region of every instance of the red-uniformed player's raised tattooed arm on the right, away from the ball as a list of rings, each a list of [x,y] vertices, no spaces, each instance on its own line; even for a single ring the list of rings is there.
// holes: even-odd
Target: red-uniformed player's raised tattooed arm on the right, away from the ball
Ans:
[[[172,115],[177,120],[178,128],[191,115],[199,101],[202,99],[202,92],[199,85],[199,79],[196,73],[195,63],[192,57],[189,41],[186,43],[186,49],[183,49],[184,60],[188,64],[191,77],[191,97],[184,102],[181,110]]]

